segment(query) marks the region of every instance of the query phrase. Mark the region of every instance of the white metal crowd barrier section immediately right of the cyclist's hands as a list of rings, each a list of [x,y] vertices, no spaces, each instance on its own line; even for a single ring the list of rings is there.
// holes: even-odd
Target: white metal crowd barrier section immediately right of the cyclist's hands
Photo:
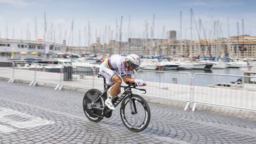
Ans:
[[[188,72],[138,70],[135,77],[146,81],[145,96],[186,102],[186,107],[191,101],[191,74]]]

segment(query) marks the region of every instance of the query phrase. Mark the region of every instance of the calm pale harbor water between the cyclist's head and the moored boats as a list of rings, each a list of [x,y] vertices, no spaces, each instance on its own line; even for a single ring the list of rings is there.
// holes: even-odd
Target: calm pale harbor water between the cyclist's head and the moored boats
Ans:
[[[137,77],[149,82],[191,84],[191,76],[196,74],[193,84],[195,86],[209,86],[213,84],[237,82],[240,77],[218,76],[214,74],[242,75],[238,68],[212,69],[212,70],[169,70],[164,72],[142,70],[137,72]],[[201,73],[201,74],[197,74]]]

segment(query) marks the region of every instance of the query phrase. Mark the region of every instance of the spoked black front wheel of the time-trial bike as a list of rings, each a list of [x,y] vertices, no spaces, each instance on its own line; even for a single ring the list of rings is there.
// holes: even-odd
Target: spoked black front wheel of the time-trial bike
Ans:
[[[143,131],[150,121],[150,109],[146,101],[137,94],[127,96],[121,104],[120,115],[129,131]]]

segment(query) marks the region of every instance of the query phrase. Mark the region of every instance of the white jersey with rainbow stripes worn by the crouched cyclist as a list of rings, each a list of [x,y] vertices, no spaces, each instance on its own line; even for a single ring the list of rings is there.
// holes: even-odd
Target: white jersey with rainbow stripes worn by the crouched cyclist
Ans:
[[[107,67],[108,69],[117,72],[121,77],[124,77],[125,75],[132,75],[132,71],[128,71],[124,67],[125,58],[126,57],[122,57],[121,55],[112,55],[102,63],[102,67]]]

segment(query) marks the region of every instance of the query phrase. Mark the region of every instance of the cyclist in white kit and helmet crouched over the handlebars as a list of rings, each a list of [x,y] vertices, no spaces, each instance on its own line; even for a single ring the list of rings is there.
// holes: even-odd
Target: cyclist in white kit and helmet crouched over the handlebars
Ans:
[[[110,89],[110,94],[105,101],[105,104],[109,109],[114,110],[112,98],[120,94],[122,80],[124,80],[124,82],[135,83],[138,87],[146,85],[146,82],[142,79],[132,78],[132,71],[139,67],[139,65],[141,65],[141,60],[136,54],[127,55],[127,57],[112,55],[102,62],[102,65],[100,65],[100,74],[105,77],[110,84],[113,84]]]

